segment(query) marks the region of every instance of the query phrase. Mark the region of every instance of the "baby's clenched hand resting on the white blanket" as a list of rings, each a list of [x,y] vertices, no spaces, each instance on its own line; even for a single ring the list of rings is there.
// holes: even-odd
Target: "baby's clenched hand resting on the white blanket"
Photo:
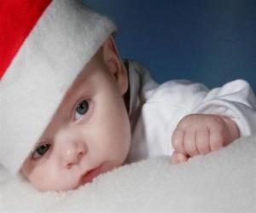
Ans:
[[[236,123],[230,118],[211,114],[189,114],[172,134],[174,153],[171,163],[177,164],[199,154],[225,147],[240,136]]]

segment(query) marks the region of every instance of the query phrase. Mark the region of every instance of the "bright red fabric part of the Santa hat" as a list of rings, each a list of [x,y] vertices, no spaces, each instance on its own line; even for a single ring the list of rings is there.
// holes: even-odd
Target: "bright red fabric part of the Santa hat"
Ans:
[[[0,79],[52,0],[0,1]]]

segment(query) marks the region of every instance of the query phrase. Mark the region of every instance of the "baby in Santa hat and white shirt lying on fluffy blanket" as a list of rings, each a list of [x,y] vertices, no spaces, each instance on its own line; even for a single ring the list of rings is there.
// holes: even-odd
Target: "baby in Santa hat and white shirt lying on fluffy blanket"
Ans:
[[[0,164],[39,190],[152,156],[185,162],[256,132],[247,82],[158,85],[121,60],[106,17],[75,0],[20,2],[0,3]]]

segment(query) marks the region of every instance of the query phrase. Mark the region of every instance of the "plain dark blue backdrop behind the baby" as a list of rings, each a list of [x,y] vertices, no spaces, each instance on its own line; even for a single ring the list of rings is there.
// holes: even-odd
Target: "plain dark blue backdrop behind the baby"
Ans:
[[[256,90],[256,0],[84,0],[119,27],[122,57],[154,78],[216,87],[244,78]]]

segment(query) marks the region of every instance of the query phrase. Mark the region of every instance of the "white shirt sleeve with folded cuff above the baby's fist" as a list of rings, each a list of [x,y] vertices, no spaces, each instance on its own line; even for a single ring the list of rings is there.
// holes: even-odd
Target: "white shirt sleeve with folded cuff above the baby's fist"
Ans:
[[[241,136],[256,133],[256,99],[244,80],[210,90],[192,112],[227,116],[236,122]]]

